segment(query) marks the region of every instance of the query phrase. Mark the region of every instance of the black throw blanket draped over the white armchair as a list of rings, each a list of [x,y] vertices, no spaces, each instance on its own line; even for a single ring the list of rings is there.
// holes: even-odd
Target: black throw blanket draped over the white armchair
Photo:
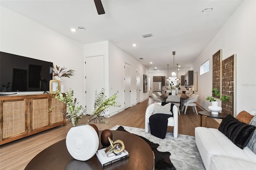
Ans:
[[[161,105],[164,106],[166,104],[167,104],[166,102],[162,102]],[[170,109],[171,112],[172,112],[173,106],[174,104],[171,104],[171,109]],[[168,124],[169,117],[173,117],[173,115],[161,114],[161,113],[151,115],[149,117],[150,133],[158,138],[164,139],[167,131],[167,124]]]

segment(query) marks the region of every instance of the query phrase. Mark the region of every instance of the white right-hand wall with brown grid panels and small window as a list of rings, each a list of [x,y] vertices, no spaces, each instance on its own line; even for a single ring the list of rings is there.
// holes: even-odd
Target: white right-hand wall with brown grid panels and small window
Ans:
[[[243,1],[193,64],[198,71],[199,104],[208,108],[212,91],[212,55],[222,49],[222,59],[236,54],[236,115],[256,110],[256,1]],[[210,71],[200,73],[200,64],[210,59]]]

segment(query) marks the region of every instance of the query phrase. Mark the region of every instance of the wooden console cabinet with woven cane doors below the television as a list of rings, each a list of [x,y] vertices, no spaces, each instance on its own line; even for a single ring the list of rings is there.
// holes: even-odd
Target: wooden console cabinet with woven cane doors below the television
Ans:
[[[54,106],[52,112],[48,112]],[[0,145],[44,130],[66,125],[64,103],[50,94],[0,97]]]

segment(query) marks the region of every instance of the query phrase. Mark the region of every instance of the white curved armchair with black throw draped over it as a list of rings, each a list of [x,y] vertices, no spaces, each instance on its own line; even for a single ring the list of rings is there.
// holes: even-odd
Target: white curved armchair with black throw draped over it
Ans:
[[[159,104],[161,105],[161,103]],[[145,132],[149,132],[150,130],[149,117],[150,115],[153,114],[154,111],[155,111],[155,104],[152,103],[147,107],[146,113],[145,113]],[[178,137],[178,108],[176,107],[176,105],[174,105],[172,108],[172,114],[173,114],[173,117],[168,118],[167,126],[173,127],[173,136],[174,138],[177,138]]]

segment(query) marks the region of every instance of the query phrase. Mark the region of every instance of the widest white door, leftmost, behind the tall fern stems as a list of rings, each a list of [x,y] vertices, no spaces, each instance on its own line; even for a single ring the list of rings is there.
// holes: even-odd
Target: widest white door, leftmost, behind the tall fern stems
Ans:
[[[89,115],[94,111],[95,91],[100,93],[104,85],[104,55],[86,57],[86,111]]]

